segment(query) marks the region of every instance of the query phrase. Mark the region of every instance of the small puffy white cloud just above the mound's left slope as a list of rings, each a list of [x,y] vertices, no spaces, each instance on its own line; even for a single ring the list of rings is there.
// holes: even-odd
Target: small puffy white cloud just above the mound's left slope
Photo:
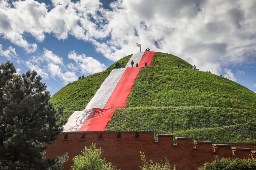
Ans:
[[[75,51],[69,52],[69,59],[72,59],[81,68],[82,74],[93,74],[104,71],[107,67],[93,57],[86,57],[85,54],[77,55]]]

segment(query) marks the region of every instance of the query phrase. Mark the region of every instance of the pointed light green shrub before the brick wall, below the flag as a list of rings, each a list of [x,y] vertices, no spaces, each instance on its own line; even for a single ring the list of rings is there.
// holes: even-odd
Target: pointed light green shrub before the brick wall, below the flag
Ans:
[[[112,166],[110,162],[101,159],[101,148],[96,148],[96,143],[93,143],[90,148],[84,148],[81,151],[82,154],[73,158],[74,164],[71,166],[71,170],[117,170],[116,166]]]

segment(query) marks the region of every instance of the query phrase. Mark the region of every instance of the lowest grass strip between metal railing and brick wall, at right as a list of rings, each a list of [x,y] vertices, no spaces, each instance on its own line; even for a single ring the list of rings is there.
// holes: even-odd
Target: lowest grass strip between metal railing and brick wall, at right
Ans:
[[[173,134],[174,139],[175,137],[186,137],[214,143],[256,142],[256,123],[220,128],[182,130],[171,134]]]

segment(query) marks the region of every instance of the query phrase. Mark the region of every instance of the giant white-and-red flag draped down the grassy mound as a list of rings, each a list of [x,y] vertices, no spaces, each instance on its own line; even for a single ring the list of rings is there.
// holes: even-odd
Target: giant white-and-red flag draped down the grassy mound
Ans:
[[[114,69],[102,83],[84,110],[74,112],[64,125],[68,131],[104,131],[115,108],[124,108],[140,69],[151,65],[156,52],[133,54],[125,68]],[[131,67],[131,61],[138,67]]]

